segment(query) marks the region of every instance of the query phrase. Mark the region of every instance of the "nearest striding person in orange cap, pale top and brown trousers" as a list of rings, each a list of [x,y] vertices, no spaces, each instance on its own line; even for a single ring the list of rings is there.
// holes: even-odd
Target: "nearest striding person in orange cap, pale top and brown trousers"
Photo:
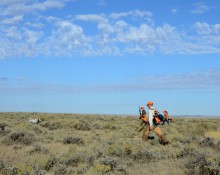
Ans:
[[[149,111],[148,111],[148,120],[149,120],[148,122],[149,122],[149,124],[148,124],[147,128],[145,129],[145,131],[143,133],[142,140],[147,141],[149,133],[151,131],[154,131],[160,137],[161,143],[163,145],[169,144],[169,141],[167,140],[167,137],[161,131],[161,129],[159,127],[159,124],[157,123],[157,120],[155,118],[155,109],[153,107],[153,102],[149,101],[149,102],[147,102],[146,105],[149,109]]]

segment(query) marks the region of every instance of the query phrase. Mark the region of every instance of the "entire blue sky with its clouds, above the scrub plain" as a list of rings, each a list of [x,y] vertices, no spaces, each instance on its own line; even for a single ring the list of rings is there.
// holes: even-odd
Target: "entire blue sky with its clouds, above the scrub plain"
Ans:
[[[1,0],[0,111],[220,116],[218,0]]]

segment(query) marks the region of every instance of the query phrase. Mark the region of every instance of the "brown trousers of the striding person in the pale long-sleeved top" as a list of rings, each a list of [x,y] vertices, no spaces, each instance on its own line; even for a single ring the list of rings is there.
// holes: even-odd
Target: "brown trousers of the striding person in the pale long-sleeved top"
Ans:
[[[161,131],[159,126],[154,127],[153,131],[160,137],[161,142],[163,144],[168,143],[168,140],[167,140],[166,136],[163,134],[163,132]],[[144,130],[143,136],[142,136],[143,141],[145,141],[145,142],[147,141],[150,132],[151,132],[150,131],[150,126],[147,125],[146,129]]]

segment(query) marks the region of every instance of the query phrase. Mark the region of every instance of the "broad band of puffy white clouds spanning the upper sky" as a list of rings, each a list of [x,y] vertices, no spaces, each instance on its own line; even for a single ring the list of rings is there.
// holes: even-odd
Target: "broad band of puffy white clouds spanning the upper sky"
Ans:
[[[50,8],[62,8],[67,2],[2,1],[0,59],[36,55],[220,53],[218,23],[196,22],[191,27],[193,32],[184,31],[168,23],[155,25],[151,12],[137,9],[110,14],[69,15],[66,18],[35,16],[35,13]],[[26,19],[27,13],[33,13],[32,20]]]

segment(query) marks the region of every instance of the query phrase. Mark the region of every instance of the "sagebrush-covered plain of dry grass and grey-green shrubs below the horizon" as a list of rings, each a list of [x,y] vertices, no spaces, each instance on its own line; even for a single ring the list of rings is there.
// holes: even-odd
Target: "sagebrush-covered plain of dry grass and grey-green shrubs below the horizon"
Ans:
[[[141,141],[137,116],[0,113],[0,174],[220,174],[220,118],[172,119],[163,146]]]

